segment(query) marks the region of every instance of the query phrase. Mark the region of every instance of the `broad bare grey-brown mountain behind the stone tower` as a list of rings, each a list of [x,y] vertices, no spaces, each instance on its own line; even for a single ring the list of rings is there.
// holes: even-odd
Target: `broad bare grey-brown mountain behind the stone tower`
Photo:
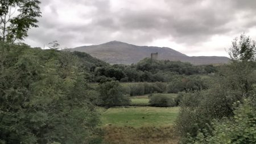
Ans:
[[[195,65],[212,63],[228,63],[228,57],[189,57],[171,48],[156,46],[137,46],[121,41],[110,41],[100,45],[80,46],[71,51],[86,52],[102,61],[129,65],[137,63],[143,58],[150,57],[151,53],[158,53],[159,60],[191,62]]]

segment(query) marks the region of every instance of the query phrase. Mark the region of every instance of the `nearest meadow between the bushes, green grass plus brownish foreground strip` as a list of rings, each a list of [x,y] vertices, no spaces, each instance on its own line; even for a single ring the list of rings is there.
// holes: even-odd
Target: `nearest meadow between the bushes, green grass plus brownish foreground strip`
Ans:
[[[143,99],[143,98],[142,98]],[[106,143],[170,143],[179,141],[173,128],[179,108],[99,108]]]

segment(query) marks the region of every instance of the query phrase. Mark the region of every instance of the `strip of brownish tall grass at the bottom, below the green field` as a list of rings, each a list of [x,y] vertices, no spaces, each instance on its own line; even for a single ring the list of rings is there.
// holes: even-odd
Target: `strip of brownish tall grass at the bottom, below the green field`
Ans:
[[[159,127],[154,126],[134,128],[131,126],[106,126],[104,129],[104,141],[106,143],[168,143],[176,144],[179,141],[179,136],[172,126]]]

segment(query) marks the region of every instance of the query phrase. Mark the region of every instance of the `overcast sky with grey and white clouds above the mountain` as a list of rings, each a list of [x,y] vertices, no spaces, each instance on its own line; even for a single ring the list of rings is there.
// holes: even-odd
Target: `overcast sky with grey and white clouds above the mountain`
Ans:
[[[227,56],[245,32],[256,40],[255,0],[42,0],[26,43],[63,47],[118,40],[166,46],[188,56]]]

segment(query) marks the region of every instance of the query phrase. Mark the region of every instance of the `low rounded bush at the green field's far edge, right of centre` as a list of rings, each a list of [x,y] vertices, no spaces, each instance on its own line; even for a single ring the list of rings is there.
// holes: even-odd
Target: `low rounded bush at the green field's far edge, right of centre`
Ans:
[[[150,105],[153,107],[175,107],[174,98],[165,95],[152,95],[150,98]]]

